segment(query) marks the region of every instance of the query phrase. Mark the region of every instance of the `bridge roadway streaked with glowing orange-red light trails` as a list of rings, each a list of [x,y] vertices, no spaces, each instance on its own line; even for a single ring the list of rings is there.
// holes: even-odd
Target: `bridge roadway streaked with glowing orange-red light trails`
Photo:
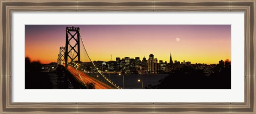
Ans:
[[[65,67],[65,65],[63,65]],[[103,82],[100,82],[98,80],[95,80],[93,78],[91,78],[90,76],[86,75],[85,73],[81,72],[81,71],[78,71],[81,78],[83,78],[83,81],[81,80],[81,78],[79,77],[77,71],[76,71],[76,68],[72,67],[72,66],[68,66],[67,70],[81,83],[93,83],[94,84],[94,88],[95,89],[113,89],[113,87],[103,83]]]

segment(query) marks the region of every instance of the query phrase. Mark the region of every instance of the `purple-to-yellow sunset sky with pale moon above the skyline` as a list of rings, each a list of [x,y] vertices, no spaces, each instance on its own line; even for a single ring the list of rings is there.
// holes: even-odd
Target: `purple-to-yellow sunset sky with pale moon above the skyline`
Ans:
[[[25,25],[25,56],[43,64],[57,62],[66,44],[66,27],[79,27],[91,60],[143,57],[218,64],[231,60],[231,25]],[[69,36],[70,37],[70,36]],[[71,44],[74,41],[70,40]],[[81,41],[80,41],[81,42]],[[82,42],[81,61],[89,61]]]

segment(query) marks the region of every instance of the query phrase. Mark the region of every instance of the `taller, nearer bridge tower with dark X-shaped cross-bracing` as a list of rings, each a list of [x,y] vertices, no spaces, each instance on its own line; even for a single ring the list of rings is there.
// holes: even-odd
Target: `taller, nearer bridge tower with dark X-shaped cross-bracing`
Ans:
[[[69,38],[71,36],[71,38]],[[70,41],[75,41],[75,45],[72,46],[70,44]],[[77,46],[77,50],[76,47]],[[69,50],[70,47],[70,50]],[[72,50],[74,51],[74,54],[72,53]],[[71,53],[70,57],[69,53]],[[74,55],[76,56],[74,57]],[[78,63],[80,63],[80,34],[79,34],[79,28],[74,27],[67,27],[66,28],[66,47],[65,47],[65,66],[68,67],[68,58],[71,59],[71,61],[78,59]]]

